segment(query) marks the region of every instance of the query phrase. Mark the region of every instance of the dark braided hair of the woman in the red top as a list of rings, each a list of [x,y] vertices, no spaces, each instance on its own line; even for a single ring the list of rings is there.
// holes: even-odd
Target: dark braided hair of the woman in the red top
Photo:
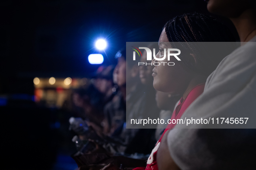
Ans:
[[[172,47],[182,49],[181,61],[191,70],[205,76],[209,76],[220,61],[236,48],[234,43],[194,43],[235,41],[226,25],[206,14],[188,13],[176,16],[164,28]],[[190,54],[194,54],[201,63],[200,68],[195,66]]]

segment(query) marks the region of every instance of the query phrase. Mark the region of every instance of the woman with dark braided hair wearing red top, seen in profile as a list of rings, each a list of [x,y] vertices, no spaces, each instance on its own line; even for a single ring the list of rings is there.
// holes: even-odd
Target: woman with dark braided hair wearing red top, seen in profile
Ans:
[[[163,49],[178,48],[182,52],[179,55],[181,61],[177,62],[174,57],[168,61],[166,57],[162,62],[173,62],[175,66],[155,66],[152,76],[156,90],[179,93],[182,96],[171,120],[179,119],[188,106],[203,93],[207,77],[216,69],[220,61],[235,49],[232,45],[229,47],[217,44],[209,46],[205,43],[194,42],[232,41],[235,41],[235,38],[230,30],[212,16],[189,13],[176,16],[165,24],[159,38],[159,52],[156,57],[162,58],[166,52]],[[156,60],[153,59],[152,62],[156,62]],[[162,137],[166,131],[174,126],[175,123],[169,124]],[[156,153],[162,137],[149,156],[146,168],[138,167],[134,170],[158,170]],[[175,168],[178,169],[178,167]]]

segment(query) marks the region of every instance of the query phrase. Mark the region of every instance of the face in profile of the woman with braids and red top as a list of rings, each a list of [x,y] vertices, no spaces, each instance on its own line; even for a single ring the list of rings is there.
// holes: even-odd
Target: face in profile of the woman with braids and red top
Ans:
[[[166,49],[166,57],[165,60],[162,61],[156,61],[154,59],[152,60],[152,63],[160,63],[159,66],[155,66],[153,69],[153,85],[154,88],[158,91],[176,92],[179,94],[183,94],[188,87],[188,83],[191,81],[191,73],[189,72],[188,68],[182,63],[182,61],[178,61],[177,59],[175,59],[175,57],[170,56],[170,60],[168,61],[168,48],[172,47],[169,44],[164,28],[159,38],[159,52],[156,54],[156,57],[162,58],[164,56],[164,49]],[[166,63],[165,65],[163,65],[163,63],[161,62]],[[167,65],[167,63],[169,62],[173,62],[175,63],[175,65]]]

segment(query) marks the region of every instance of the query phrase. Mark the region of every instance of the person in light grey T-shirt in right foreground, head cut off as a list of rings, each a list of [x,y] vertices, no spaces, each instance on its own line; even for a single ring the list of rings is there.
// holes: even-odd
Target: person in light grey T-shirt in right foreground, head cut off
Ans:
[[[241,46],[207,78],[204,93],[183,113],[187,120],[244,117],[247,123],[177,124],[158,149],[159,170],[254,170],[256,167],[256,1],[205,0],[211,13],[233,22]],[[230,119],[227,119],[230,118]],[[211,129],[207,129],[207,128]],[[218,128],[225,129],[218,129]],[[215,129],[216,128],[216,129]],[[166,161],[168,160],[168,161]]]

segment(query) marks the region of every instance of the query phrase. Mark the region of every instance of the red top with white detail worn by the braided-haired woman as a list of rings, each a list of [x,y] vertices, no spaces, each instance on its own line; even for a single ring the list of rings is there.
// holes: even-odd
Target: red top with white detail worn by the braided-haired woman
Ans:
[[[183,98],[181,98],[181,100],[178,103],[178,106],[175,108],[175,111],[172,113],[172,119],[175,119],[176,123],[177,123],[177,119],[180,119],[182,114],[185,112],[185,110],[188,108],[188,106],[196,99],[198,98],[198,96],[200,96],[203,91],[204,91],[204,84],[200,84],[195,86],[188,94],[187,98],[185,98],[185,100]],[[147,161],[147,166],[146,167],[137,167],[134,168],[133,170],[158,170],[157,167],[157,163],[156,163],[156,153],[157,150],[160,146],[160,142],[162,140],[163,135],[165,134],[166,131],[168,131],[169,129],[173,129],[175,124],[168,124],[167,128],[165,129],[165,131],[163,132],[161,138],[159,139],[159,141],[156,143],[155,148],[152,150],[152,153],[149,156],[149,159]]]

